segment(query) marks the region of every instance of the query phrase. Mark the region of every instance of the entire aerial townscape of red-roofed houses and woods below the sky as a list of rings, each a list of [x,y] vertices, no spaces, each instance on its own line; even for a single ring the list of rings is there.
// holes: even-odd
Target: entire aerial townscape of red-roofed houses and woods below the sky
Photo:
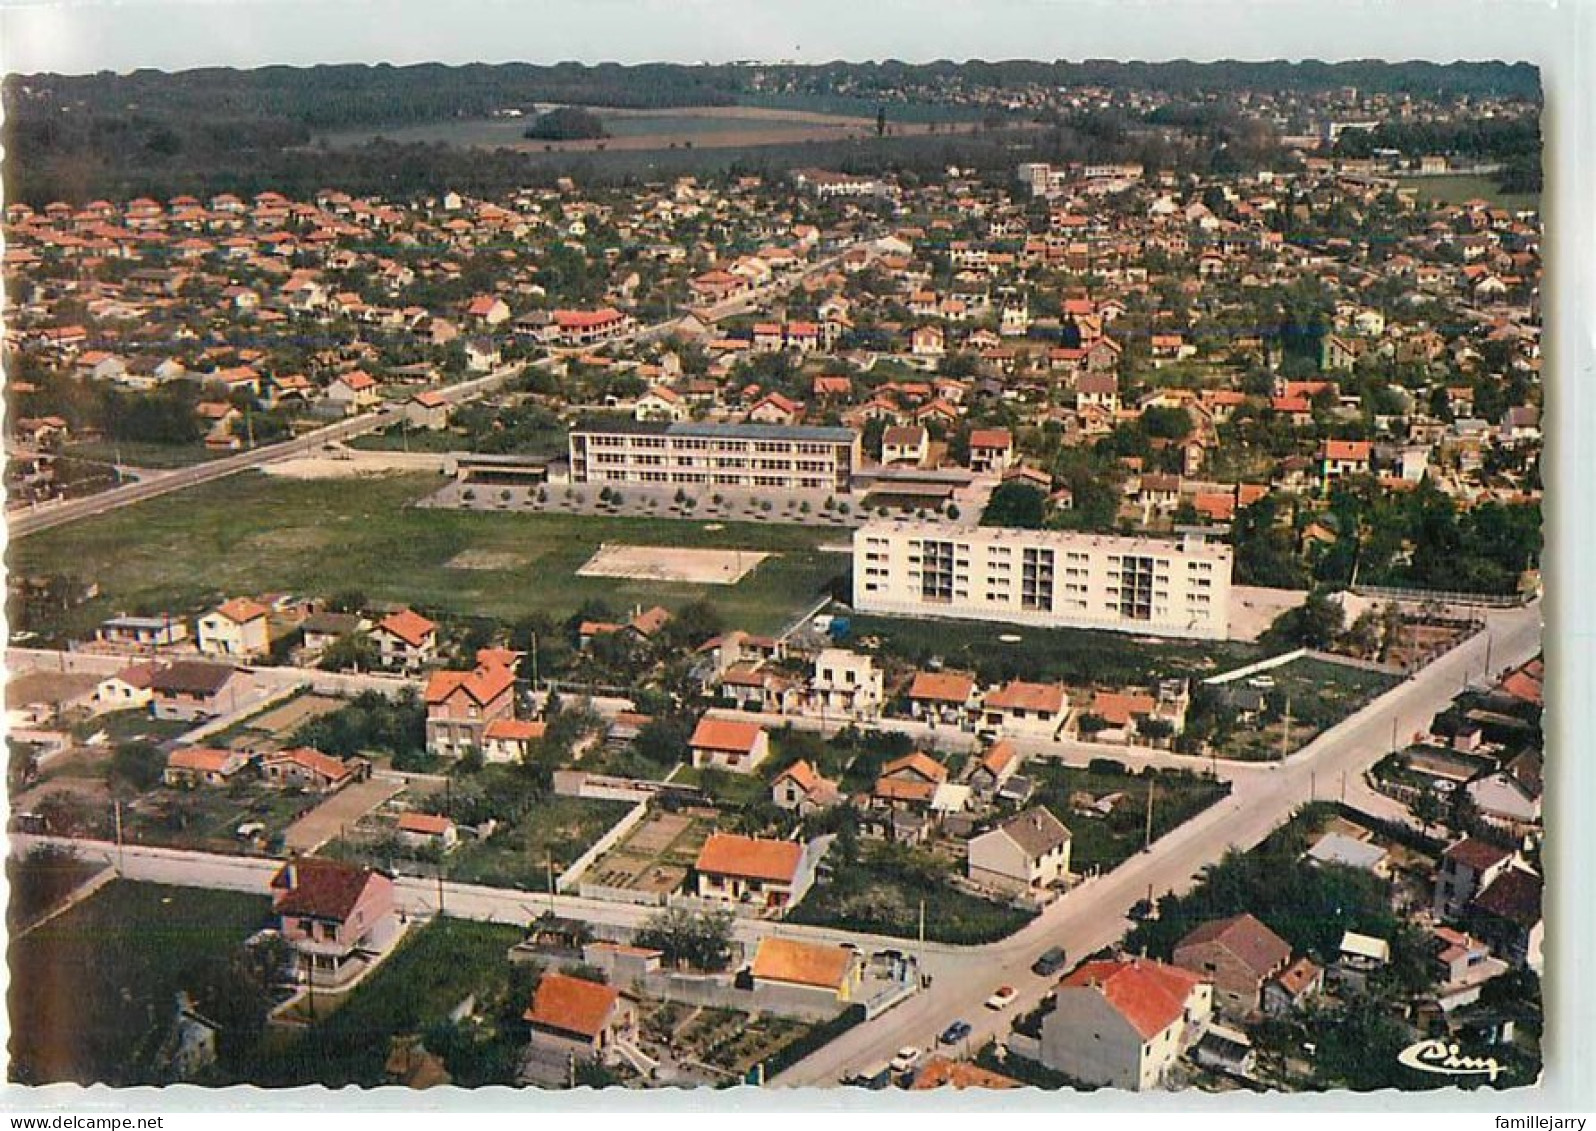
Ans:
[[[3,102],[13,1083],[1535,1085],[1534,67]]]

